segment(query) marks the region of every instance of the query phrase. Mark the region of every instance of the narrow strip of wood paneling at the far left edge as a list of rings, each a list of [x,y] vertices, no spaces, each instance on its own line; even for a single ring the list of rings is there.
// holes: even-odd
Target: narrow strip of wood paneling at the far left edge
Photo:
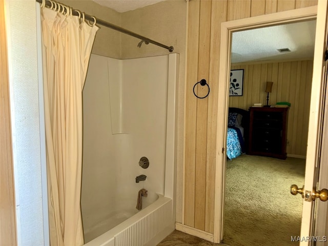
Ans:
[[[16,245],[4,1],[0,1],[0,245]]]

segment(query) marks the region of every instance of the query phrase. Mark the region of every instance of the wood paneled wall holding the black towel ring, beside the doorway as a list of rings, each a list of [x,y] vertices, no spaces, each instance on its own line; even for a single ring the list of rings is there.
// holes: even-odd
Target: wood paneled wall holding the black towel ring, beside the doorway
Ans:
[[[182,224],[213,233],[221,23],[314,6],[317,0],[192,0],[188,4]],[[202,78],[208,80],[211,93],[207,98],[197,99],[193,86]],[[207,92],[206,89],[196,88],[200,96]]]

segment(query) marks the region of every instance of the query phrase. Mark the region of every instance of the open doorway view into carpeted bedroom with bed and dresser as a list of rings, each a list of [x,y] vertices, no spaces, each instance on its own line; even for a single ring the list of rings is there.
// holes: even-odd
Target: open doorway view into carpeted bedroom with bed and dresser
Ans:
[[[233,33],[231,76],[237,77],[235,81],[231,77],[228,127],[238,132],[236,136],[242,135],[239,142],[244,146],[240,150],[231,147],[233,155],[227,159],[226,244],[298,245],[291,235],[300,235],[302,199],[289,190],[293,183],[304,183],[315,31],[316,20],[308,20]],[[267,82],[272,85],[269,89]],[[266,105],[271,107],[263,107]],[[250,118],[249,109],[254,106],[263,108],[260,114],[254,113],[258,116],[272,116],[271,108],[280,112],[287,107],[282,110],[287,120],[274,112],[279,131],[265,126],[261,117],[264,125],[254,127],[259,124]],[[262,131],[255,138],[253,133],[251,141],[250,128]],[[281,149],[281,141],[286,142],[282,148],[287,157],[274,158],[272,153]],[[262,148],[258,155],[250,151],[254,144]]]

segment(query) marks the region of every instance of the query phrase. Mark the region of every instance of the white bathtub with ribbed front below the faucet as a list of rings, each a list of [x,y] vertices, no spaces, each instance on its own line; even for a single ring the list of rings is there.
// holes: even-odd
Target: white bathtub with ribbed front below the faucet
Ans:
[[[142,210],[138,211],[136,200],[122,201],[122,210],[85,231],[85,240],[93,240],[85,246],[142,246],[156,245],[174,230],[173,202],[160,194],[148,193],[142,197]],[[124,204],[130,204],[127,207]]]

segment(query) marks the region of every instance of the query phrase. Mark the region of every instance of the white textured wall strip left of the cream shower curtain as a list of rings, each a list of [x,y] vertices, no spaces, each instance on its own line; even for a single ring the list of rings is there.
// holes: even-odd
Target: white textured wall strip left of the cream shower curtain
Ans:
[[[39,4],[5,7],[17,244],[49,245]]]

